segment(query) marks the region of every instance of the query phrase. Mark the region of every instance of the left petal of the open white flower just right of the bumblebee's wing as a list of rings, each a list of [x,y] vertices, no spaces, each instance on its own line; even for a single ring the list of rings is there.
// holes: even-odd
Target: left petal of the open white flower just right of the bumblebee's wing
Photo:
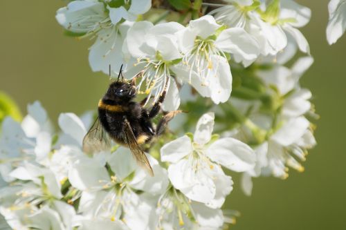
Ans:
[[[176,163],[186,155],[192,153],[192,151],[190,137],[185,135],[165,144],[161,148],[161,161]]]

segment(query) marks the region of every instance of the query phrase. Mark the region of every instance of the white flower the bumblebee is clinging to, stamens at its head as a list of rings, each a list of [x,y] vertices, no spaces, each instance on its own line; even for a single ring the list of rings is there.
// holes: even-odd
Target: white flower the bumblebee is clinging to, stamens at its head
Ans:
[[[153,95],[156,102],[166,88],[165,111],[174,111],[180,104],[179,90],[170,68],[182,57],[174,36],[181,29],[183,26],[175,22],[154,26],[149,21],[139,21],[129,29],[124,43],[124,52],[137,60],[134,68],[127,70],[127,75],[135,76],[142,72],[137,87],[139,93],[148,95],[148,100]]]

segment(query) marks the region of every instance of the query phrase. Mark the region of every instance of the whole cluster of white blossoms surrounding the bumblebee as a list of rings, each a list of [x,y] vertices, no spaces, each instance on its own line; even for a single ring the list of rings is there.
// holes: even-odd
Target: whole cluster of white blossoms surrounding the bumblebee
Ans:
[[[167,89],[163,111],[188,108],[172,121],[176,132],[147,150],[154,177],[128,148],[83,153],[91,113],[62,113],[55,132],[35,102],[21,122],[2,123],[0,213],[12,229],[224,229],[234,215],[221,208],[237,186],[229,173],[242,173],[250,195],[252,178],[304,170],[317,115],[300,86],[313,58],[299,29],[311,10],[293,0],[198,0],[165,11],[154,2],[75,0],[56,15],[69,35],[95,39],[93,71],[124,64],[148,101]],[[345,31],[345,2],[329,4],[330,43]]]

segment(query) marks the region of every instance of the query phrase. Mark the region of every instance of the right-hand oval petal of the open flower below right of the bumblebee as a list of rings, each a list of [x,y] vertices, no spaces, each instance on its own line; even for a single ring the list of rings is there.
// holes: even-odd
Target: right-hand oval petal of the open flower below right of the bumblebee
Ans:
[[[253,149],[234,138],[222,138],[212,143],[207,151],[208,157],[227,169],[244,172],[255,166]]]

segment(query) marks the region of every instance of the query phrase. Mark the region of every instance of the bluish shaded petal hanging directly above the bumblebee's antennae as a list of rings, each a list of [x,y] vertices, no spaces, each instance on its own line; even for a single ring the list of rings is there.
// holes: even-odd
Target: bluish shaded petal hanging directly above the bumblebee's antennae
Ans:
[[[89,64],[91,69],[109,74],[109,65],[112,70],[118,71],[124,62],[122,59],[123,38],[115,27],[103,29],[98,32],[98,39],[91,46]]]

